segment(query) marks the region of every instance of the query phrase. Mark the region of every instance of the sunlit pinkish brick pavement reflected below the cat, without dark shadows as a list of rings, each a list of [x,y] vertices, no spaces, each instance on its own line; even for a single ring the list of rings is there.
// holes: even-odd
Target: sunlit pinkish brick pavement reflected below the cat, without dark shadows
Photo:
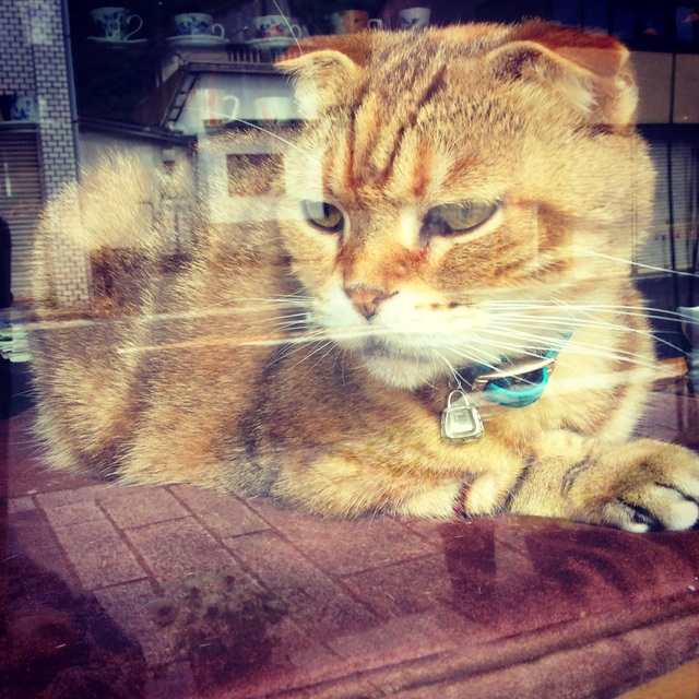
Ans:
[[[644,431],[670,439],[689,434],[691,441],[696,404],[683,399],[678,407],[678,400],[656,396]],[[212,696],[466,696],[459,679],[439,680],[464,662],[464,617],[454,613],[445,525],[323,521],[265,499],[242,501],[187,485],[114,486],[51,473],[33,445],[31,418],[23,413],[2,426],[11,553],[28,555],[74,591],[98,599],[141,644],[152,671],[149,697],[198,696],[182,629],[158,624],[152,605],[192,576],[216,571],[246,590],[266,591],[283,614],[269,628],[264,664],[238,672]],[[463,532],[451,529],[450,536],[467,536],[470,523],[451,526]],[[533,574],[507,542],[498,556],[506,578]],[[659,671],[672,668],[671,655],[666,662]],[[470,686],[487,689],[487,677]]]

